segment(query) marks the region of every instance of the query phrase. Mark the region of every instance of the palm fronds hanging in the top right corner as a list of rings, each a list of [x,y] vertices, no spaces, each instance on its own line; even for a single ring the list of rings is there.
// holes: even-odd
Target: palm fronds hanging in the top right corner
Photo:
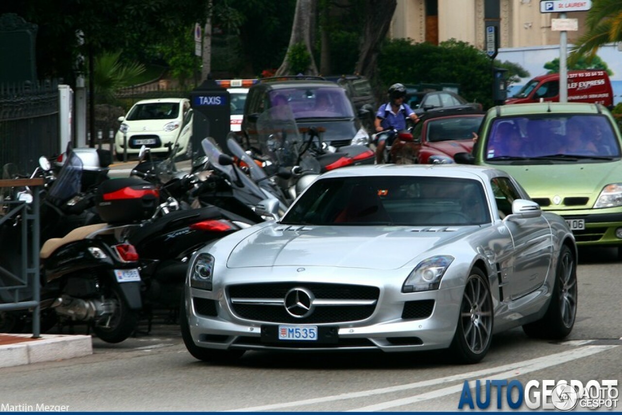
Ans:
[[[584,56],[588,61],[606,43],[622,41],[622,1],[593,0],[585,19],[587,32],[571,47],[569,64]]]

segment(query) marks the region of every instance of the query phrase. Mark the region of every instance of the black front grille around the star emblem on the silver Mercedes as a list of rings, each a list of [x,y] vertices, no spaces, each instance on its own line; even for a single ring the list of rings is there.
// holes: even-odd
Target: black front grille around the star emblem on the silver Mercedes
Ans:
[[[285,310],[285,294],[295,287],[307,289],[315,297],[315,310],[307,317],[293,317]],[[379,293],[378,287],[364,285],[299,282],[228,287],[233,313],[246,320],[267,323],[315,324],[365,320],[373,314]],[[324,303],[318,304],[322,300]],[[366,303],[361,304],[361,301]],[[341,304],[336,304],[338,302]]]

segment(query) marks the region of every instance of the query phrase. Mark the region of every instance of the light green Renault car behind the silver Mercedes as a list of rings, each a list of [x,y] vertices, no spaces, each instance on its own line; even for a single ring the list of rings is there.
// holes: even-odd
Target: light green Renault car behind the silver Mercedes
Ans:
[[[457,163],[507,171],[543,210],[564,217],[577,243],[622,253],[622,137],[611,113],[588,103],[525,103],[488,110]]]

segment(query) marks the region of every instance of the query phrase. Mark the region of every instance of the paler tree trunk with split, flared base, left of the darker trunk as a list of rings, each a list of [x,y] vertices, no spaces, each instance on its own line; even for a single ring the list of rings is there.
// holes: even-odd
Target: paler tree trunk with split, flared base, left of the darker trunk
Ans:
[[[287,53],[283,59],[281,67],[277,69],[276,75],[290,75],[292,65],[288,57],[292,46],[304,44],[310,55],[310,63],[305,70],[305,75],[317,75],[317,66],[313,59],[313,38],[315,37],[315,14],[317,11],[317,0],[297,0],[294,23],[292,24],[292,34],[289,38]]]

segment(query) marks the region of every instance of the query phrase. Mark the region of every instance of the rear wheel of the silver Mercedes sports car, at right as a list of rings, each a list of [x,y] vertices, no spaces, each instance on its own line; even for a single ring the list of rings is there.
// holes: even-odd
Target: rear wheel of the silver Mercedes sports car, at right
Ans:
[[[544,317],[522,326],[527,336],[559,340],[572,332],[577,316],[577,261],[563,246],[559,253],[553,292]]]

